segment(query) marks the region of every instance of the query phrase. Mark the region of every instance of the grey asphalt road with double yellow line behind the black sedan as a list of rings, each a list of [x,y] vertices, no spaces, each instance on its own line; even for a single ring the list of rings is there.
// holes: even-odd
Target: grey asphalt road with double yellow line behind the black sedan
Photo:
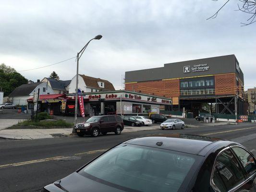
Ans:
[[[125,140],[158,133],[201,134],[234,140],[256,155],[256,124],[152,130],[108,134],[97,138],[64,137],[38,140],[0,140],[0,192],[38,192],[59,180],[106,149]]]

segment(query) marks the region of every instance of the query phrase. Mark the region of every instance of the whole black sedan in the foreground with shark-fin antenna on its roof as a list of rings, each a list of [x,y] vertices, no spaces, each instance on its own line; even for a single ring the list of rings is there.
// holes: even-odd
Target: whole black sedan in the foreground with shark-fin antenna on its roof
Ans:
[[[98,156],[46,192],[255,192],[256,159],[232,141],[157,134]]]

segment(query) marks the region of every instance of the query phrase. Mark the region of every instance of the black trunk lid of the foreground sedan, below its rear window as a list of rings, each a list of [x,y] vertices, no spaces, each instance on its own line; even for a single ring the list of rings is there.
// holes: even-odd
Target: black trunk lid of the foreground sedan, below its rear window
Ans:
[[[124,192],[120,189],[90,180],[77,172],[61,179],[61,188],[50,184],[44,188],[49,192]]]

